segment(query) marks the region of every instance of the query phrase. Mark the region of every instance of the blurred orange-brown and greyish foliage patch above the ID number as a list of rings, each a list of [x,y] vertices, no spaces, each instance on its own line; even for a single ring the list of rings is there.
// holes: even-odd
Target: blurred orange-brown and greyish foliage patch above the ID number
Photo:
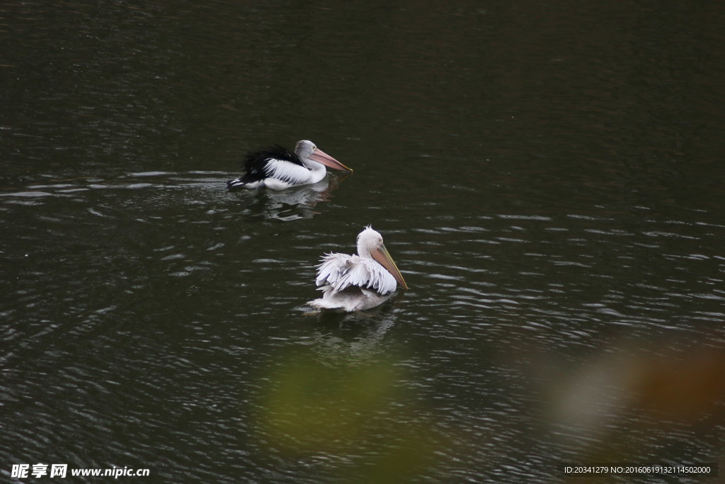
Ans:
[[[672,349],[668,340],[657,343],[613,345],[544,380],[549,411],[542,423],[558,430],[569,456],[585,464],[656,464],[684,450],[674,437],[683,431],[695,432],[703,443],[718,439],[725,419],[725,351],[702,341],[684,350]],[[679,459],[714,464],[722,454]]]

